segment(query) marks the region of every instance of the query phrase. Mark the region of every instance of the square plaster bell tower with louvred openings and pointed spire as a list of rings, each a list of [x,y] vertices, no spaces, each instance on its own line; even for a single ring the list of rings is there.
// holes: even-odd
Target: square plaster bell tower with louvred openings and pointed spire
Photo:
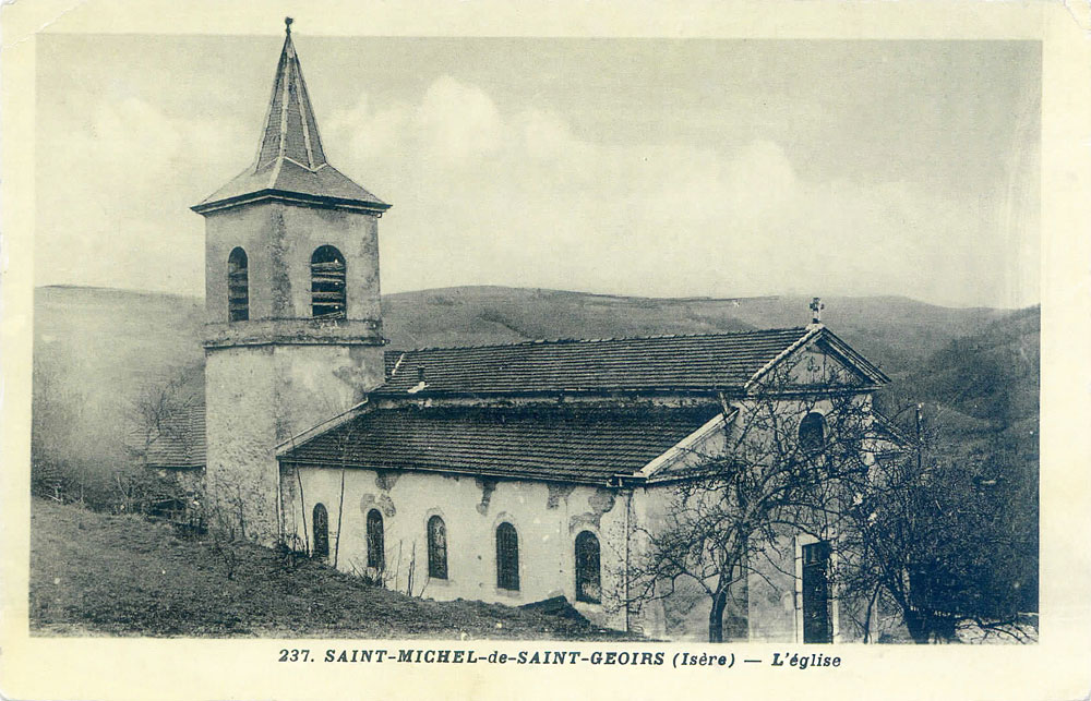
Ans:
[[[276,447],[383,382],[379,218],[326,160],[285,21],[253,164],[205,218],[205,491],[211,525],[280,531]]]

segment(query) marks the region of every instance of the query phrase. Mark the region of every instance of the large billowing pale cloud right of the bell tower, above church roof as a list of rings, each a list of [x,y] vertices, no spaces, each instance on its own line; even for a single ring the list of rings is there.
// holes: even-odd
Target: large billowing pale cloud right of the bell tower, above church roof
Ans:
[[[995,278],[988,254],[954,254],[978,240],[960,234],[981,229],[980,210],[911,183],[807,180],[770,140],[592,142],[556,112],[505,112],[449,76],[416,104],[376,108],[361,95],[331,125],[350,144],[345,169],[395,204],[383,219],[387,290],[948,301],[966,297],[967,275]]]

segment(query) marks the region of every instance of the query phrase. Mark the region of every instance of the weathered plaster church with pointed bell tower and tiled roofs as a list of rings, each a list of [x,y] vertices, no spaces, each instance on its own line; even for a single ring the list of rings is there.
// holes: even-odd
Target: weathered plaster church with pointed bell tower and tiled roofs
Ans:
[[[413,596],[563,596],[603,627],[700,640],[707,607],[636,608],[626,591],[638,533],[686,467],[722,451],[754,389],[802,360],[836,366],[839,391],[868,406],[888,382],[817,304],[796,328],[387,349],[391,205],[326,160],[290,21],[253,164],[192,209],[206,231],[204,408],[149,464],[202,485],[209,528]],[[798,391],[825,401],[805,377]],[[789,419],[802,436],[814,415]],[[779,587],[752,578],[729,612],[735,634],[851,640],[829,588],[804,587],[828,548],[795,541]]]

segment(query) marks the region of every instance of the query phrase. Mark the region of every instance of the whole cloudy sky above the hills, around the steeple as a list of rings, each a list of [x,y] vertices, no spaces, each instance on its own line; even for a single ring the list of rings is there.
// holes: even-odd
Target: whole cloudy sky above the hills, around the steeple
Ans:
[[[1038,43],[292,34],[384,292],[1040,301]],[[281,43],[44,35],[35,283],[202,294]]]

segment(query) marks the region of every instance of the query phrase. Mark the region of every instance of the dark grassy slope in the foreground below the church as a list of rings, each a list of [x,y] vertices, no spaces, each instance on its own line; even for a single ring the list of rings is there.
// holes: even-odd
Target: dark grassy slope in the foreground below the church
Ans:
[[[209,544],[135,517],[35,499],[31,627],[37,634],[619,639],[585,621],[479,602],[432,602],[272,551]],[[427,592],[425,592],[427,594]]]

